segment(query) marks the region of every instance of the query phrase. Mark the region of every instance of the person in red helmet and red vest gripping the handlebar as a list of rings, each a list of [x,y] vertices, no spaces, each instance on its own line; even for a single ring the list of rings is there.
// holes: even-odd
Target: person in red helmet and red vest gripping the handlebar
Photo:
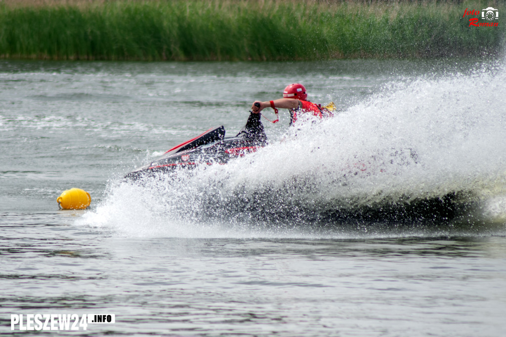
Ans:
[[[255,101],[251,105],[251,110],[254,113],[259,113],[263,109],[271,107],[277,113],[276,108],[290,109],[290,125],[297,120],[297,113],[299,112],[310,112],[320,118],[332,116],[329,110],[322,108],[319,104],[308,101],[307,98],[306,88],[300,83],[293,83],[285,88],[283,98],[265,102]],[[260,106],[258,106],[259,104]]]

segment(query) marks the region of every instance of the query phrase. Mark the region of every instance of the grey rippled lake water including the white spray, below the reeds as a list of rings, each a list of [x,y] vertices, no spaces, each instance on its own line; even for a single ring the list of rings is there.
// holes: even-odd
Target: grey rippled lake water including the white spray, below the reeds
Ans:
[[[339,113],[122,181],[292,82]],[[505,82],[503,60],[2,61],[0,334],[115,314],[60,333],[502,336]],[[58,209],[72,187],[90,209]]]

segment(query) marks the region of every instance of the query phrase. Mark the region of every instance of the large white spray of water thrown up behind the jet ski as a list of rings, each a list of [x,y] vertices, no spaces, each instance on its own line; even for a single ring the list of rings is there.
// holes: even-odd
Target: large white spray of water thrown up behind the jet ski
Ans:
[[[227,165],[143,185],[111,184],[104,201],[78,223],[134,236],[348,237],[350,231],[336,234],[336,228],[349,225],[350,214],[457,195],[461,204],[476,203],[468,214],[473,221],[496,223],[503,233],[505,82],[501,63],[477,64],[469,74],[398,80]],[[343,209],[346,217],[328,218]],[[371,222],[362,220],[352,228],[363,234]],[[382,233],[392,235],[372,235]]]

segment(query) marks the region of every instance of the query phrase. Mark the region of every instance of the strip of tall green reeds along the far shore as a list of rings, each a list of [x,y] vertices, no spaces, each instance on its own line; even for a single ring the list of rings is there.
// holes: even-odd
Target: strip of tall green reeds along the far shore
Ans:
[[[470,25],[494,7],[497,27]],[[0,58],[268,61],[499,55],[497,0],[0,0]],[[479,18],[479,16],[473,16]],[[497,22],[497,21],[496,21]]]

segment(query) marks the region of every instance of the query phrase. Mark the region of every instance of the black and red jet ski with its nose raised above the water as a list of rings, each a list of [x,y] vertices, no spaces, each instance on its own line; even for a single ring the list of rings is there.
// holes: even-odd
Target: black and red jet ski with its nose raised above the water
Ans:
[[[256,152],[267,145],[260,113],[250,113],[246,125],[235,137],[225,137],[223,125],[187,140],[165,152],[149,164],[124,178],[136,180],[158,173],[171,173],[178,168],[193,168],[199,164],[225,164],[230,159]]]

